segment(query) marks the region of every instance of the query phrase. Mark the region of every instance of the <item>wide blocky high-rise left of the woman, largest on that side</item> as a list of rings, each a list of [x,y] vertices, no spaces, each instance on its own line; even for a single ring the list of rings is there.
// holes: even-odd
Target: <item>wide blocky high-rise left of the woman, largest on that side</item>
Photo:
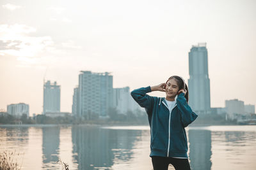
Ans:
[[[113,76],[108,72],[81,71],[76,95],[77,116],[107,117],[109,108],[113,107]]]

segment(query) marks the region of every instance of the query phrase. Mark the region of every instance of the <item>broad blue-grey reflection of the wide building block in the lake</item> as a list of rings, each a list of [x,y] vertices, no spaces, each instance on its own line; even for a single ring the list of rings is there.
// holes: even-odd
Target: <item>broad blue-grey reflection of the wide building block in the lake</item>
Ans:
[[[131,159],[140,135],[141,131],[72,127],[74,160],[79,169],[111,169],[113,164]]]

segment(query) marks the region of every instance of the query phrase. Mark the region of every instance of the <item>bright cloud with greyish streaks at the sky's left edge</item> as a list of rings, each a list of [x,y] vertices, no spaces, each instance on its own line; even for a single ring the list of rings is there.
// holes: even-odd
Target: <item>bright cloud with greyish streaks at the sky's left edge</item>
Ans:
[[[47,51],[47,47],[54,48],[50,36],[29,36],[31,32],[36,32],[36,29],[27,25],[0,25],[1,55],[36,57],[38,53]]]

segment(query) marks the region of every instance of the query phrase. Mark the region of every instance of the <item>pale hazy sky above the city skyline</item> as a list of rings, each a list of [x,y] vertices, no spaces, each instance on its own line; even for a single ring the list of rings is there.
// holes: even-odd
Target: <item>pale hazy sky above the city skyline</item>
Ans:
[[[44,80],[72,111],[80,71],[110,72],[113,87],[189,79],[188,52],[207,43],[211,107],[256,104],[254,0],[1,0],[0,110],[42,113]],[[152,96],[164,96],[152,92]]]

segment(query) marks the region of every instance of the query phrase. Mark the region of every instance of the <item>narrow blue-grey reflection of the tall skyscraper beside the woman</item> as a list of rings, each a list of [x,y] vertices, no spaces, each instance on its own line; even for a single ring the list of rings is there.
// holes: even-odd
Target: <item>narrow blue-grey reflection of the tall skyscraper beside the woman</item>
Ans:
[[[211,131],[189,130],[188,136],[191,169],[211,170]]]

